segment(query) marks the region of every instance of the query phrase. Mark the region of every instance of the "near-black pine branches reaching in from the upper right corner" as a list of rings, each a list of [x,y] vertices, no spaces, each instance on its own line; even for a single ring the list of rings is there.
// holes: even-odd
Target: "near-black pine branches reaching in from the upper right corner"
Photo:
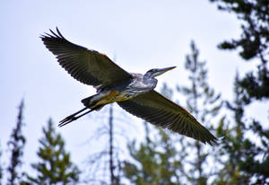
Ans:
[[[264,100],[269,98],[269,1],[268,0],[210,0],[217,3],[221,11],[235,13],[240,20],[239,39],[223,41],[221,49],[239,49],[239,56],[246,61],[256,58],[260,61],[257,72],[249,72],[239,79],[244,90],[244,100]]]

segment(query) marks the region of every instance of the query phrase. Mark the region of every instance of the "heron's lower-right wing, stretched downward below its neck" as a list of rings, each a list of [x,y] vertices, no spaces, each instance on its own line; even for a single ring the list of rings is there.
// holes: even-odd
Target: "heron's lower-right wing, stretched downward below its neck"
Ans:
[[[212,145],[217,141],[187,110],[160,93],[143,93],[128,101],[117,102],[124,110],[161,128],[169,128],[187,137]]]

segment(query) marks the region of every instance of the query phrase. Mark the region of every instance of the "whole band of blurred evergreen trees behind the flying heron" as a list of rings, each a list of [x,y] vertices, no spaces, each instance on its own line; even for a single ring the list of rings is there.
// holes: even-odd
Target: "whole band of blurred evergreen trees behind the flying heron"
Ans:
[[[236,50],[246,62],[258,61],[256,69],[234,77],[233,100],[221,98],[208,82],[206,62],[199,58],[195,41],[191,42],[185,68],[189,72],[187,86],[169,87],[163,84],[161,93],[179,102],[186,99],[191,111],[206,128],[221,137],[214,146],[200,143],[153,128],[144,123],[143,142],[129,142],[128,160],[118,157],[115,147],[113,108],[109,110],[108,148],[101,153],[108,156],[107,170],[95,165],[94,171],[106,171],[110,178],[83,180],[82,171],[65,151],[65,142],[56,133],[52,119],[42,128],[39,139],[39,162],[32,163],[34,175],[22,171],[23,147],[27,137],[23,134],[24,102],[19,106],[17,123],[8,142],[9,162],[0,160],[0,184],[266,184],[269,183],[269,128],[268,122],[247,117],[247,106],[269,97],[269,2],[267,0],[210,0],[220,11],[234,13],[241,25],[238,39],[222,41],[220,49]],[[203,52],[203,51],[202,51]],[[230,61],[232,62],[232,61]],[[216,65],[218,65],[216,63]],[[184,104],[180,100],[180,104]],[[268,120],[267,120],[268,121]],[[107,123],[106,123],[107,124]],[[106,152],[107,151],[107,152]],[[95,157],[98,156],[98,157]],[[100,154],[92,156],[94,163]],[[90,171],[91,172],[91,171]],[[3,180],[5,180],[3,182]]]

